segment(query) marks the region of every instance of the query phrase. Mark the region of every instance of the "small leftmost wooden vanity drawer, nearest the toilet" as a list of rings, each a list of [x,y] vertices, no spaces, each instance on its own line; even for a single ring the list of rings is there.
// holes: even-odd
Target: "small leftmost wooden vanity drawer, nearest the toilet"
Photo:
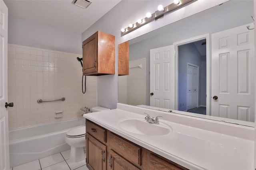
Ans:
[[[89,133],[101,142],[106,143],[106,129],[88,121],[86,119],[86,133]]]

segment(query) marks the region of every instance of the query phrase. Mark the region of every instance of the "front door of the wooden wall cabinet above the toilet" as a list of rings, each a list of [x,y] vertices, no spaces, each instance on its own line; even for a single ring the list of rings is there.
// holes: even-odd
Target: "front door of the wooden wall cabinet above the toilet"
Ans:
[[[97,72],[98,32],[83,42],[83,74]]]

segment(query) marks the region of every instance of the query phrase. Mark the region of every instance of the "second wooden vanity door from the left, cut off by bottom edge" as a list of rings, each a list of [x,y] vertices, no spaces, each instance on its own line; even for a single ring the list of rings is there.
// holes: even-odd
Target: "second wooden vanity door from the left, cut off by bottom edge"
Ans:
[[[112,170],[140,170],[113,150],[110,150],[110,157],[108,160],[109,168]]]

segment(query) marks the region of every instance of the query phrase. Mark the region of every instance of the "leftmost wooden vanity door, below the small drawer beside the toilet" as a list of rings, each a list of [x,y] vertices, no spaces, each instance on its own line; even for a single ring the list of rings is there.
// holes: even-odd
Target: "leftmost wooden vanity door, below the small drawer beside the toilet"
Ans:
[[[90,170],[106,170],[106,145],[86,134],[86,166]]]

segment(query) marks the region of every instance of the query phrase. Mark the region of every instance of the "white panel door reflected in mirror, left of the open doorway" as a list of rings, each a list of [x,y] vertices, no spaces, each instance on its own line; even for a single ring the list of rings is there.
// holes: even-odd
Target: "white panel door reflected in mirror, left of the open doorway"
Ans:
[[[174,45],[150,50],[150,106],[174,109]]]

